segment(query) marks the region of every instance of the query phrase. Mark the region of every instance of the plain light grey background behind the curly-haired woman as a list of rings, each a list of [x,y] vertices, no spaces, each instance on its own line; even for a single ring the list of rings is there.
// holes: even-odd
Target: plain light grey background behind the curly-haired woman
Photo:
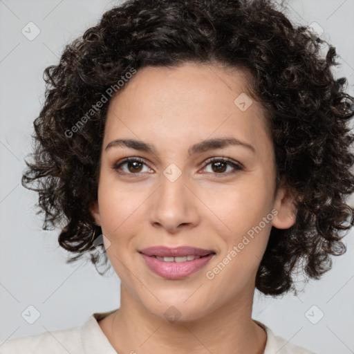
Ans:
[[[44,101],[44,68],[56,64],[64,45],[94,26],[114,3],[0,0],[0,343],[82,326],[92,313],[119,307],[117,275],[111,271],[101,277],[85,260],[67,265],[68,254],[57,245],[58,231],[41,230],[41,216],[35,214],[37,195],[20,183],[32,121]],[[288,9],[296,24],[315,21],[324,29],[322,39],[334,44],[340,55],[342,65],[335,75],[348,77],[353,95],[354,0],[295,0],[288,1]],[[21,33],[30,21],[41,31],[32,41]],[[253,318],[275,335],[316,353],[354,353],[353,232],[345,240],[348,250],[333,257],[333,270],[308,283],[298,297],[272,299],[257,292]],[[298,287],[305,287],[301,279]],[[28,306],[40,313],[34,324],[21,317]],[[35,319],[35,310],[30,313]]]

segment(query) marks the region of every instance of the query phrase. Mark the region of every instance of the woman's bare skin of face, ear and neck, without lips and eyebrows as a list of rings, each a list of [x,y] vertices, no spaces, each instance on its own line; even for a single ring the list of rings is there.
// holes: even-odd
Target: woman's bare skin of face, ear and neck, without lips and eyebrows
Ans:
[[[217,64],[146,67],[110,102],[98,201],[91,212],[121,280],[120,309],[99,322],[119,353],[264,351],[265,330],[252,321],[254,280],[271,227],[292,226],[296,210],[283,184],[274,198],[274,150],[263,108],[255,100],[245,111],[234,104],[247,84],[243,72]],[[230,136],[255,152],[241,145],[187,152],[205,139]],[[156,153],[105,149],[118,138],[142,140]],[[113,169],[131,156],[145,162]],[[223,156],[243,169],[205,163]],[[163,174],[171,163],[181,171],[174,182]],[[207,279],[207,270],[272,209],[278,212],[272,221],[214,279]],[[164,279],[147,268],[138,252],[154,245],[190,245],[216,255],[184,279]],[[180,313],[176,322],[165,318],[170,306]]]

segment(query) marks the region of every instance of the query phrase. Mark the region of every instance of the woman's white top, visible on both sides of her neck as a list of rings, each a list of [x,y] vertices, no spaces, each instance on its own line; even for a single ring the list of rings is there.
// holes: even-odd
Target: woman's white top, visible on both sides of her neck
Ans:
[[[117,354],[97,321],[115,312],[93,313],[84,326],[53,330],[38,335],[8,339],[0,344],[0,354]],[[265,329],[267,342],[263,354],[315,354],[295,346],[253,319]]]

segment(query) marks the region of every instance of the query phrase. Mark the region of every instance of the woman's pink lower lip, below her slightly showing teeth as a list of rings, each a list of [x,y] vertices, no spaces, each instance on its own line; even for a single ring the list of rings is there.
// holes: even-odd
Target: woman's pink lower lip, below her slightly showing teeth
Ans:
[[[193,261],[185,261],[185,262],[164,262],[160,261],[156,257],[150,257],[146,254],[142,254],[142,258],[145,259],[147,266],[150,270],[160,275],[165,279],[183,279],[187,277],[189,274],[196,272],[204,267],[207,262],[212,259],[214,253],[209,254],[205,257],[201,257],[198,259],[194,259]]]

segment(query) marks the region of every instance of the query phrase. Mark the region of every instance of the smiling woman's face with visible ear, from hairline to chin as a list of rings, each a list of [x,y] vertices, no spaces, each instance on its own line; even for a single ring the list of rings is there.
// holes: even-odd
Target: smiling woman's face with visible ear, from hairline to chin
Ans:
[[[271,227],[295,222],[286,190],[274,198],[272,141],[246,88],[216,65],[147,67],[110,102],[92,213],[122,291],[162,319],[252,301]],[[212,254],[172,264],[141,253],[153,246]]]

